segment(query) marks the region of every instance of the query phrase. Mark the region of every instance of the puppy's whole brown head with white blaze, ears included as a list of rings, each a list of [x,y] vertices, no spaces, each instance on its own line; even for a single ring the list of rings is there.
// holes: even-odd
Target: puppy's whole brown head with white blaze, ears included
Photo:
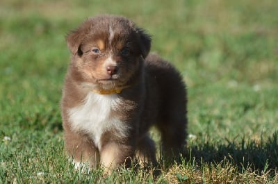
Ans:
[[[150,44],[142,29],[114,16],[92,17],[67,36],[76,78],[103,89],[129,83],[140,72]]]

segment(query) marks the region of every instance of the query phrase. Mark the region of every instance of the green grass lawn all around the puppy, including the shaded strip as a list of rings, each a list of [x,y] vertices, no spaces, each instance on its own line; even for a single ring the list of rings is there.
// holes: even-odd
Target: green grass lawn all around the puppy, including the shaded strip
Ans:
[[[278,183],[277,1],[0,5],[0,183]],[[160,160],[159,176],[135,168],[81,174],[63,154],[65,35],[100,13],[145,28],[152,51],[188,85],[188,151],[172,167]]]

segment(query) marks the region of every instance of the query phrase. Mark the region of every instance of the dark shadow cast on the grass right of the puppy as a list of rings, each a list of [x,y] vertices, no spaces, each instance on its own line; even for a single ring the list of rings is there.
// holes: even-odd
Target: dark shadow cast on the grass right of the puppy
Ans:
[[[238,171],[244,172],[246,169],[252,169],[257,174],[270,172],[275,174],[278,167],[278,132],[268,137],[267,140],[246,140],[241,142],[233,140],[228,144],[213,143],[206,140],[201,144],[189,146],[185,158],[188,161],[195,158],[198,165],[204,163],[219,165],[227,160],[238,168]],[[183,157],[184,158],[184,157]]]

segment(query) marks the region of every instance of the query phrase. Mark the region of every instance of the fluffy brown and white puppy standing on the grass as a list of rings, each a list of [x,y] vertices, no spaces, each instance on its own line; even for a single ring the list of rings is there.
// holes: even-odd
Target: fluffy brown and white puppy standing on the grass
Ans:
[[[124,17],[87,19],[67,36],[72,60],[65,77],[65,150],[90,167],[156,163],[149,128],[161,132],[165,156],[186,144],[186,90],[172,65],[149,54],[151,39]],[[165,44],[167,47],[167,44]]]

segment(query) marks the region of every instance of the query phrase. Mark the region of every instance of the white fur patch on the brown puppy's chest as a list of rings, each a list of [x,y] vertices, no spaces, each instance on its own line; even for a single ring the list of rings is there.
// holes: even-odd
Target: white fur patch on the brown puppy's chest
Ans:
[[[90,92],[83,104],[68,110],[72,130],[88,133],[99,149],[104,132],[116,131],[124,136],[126,125],[111,113],[117,109],[119,101],[117,94],[101,95]]]

